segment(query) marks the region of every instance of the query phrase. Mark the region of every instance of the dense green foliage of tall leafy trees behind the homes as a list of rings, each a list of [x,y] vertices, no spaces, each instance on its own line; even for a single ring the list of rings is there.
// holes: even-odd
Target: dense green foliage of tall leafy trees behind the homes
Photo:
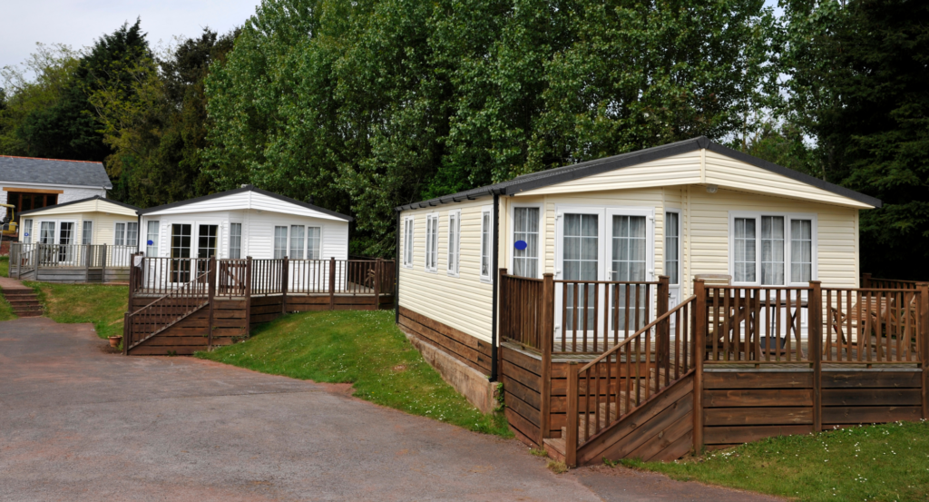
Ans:
[[[753,128],[763,2],[266,0],[208,80],[220,187],[358,216],[519,174]]]

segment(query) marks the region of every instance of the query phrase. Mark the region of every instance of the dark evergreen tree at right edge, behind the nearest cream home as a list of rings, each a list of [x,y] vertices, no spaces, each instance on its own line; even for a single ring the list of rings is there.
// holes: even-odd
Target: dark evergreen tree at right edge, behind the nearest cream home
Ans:
[[[822,177],[882,199],[862,211],[862,270],[929,276],[929,5],[785,4],[791,112]]]

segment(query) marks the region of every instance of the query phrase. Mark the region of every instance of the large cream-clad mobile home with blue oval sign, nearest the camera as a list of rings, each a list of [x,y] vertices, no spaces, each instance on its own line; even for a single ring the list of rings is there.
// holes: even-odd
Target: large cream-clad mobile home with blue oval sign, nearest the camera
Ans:
[[[549,169],[397,208],[398,322],[496,376],[501,326],[523,327],[507,324],[515,314],[498,303],[501,270],[540,280],[520,295],[553,274],[556,342],[599,330],[603,343],[603,331],[623,324],[622,313],[609,317],[626,300],[625,283],[667,277],[671,308],[700,275],[756,287],[857,287],[858,211],[880,205],[706,138]],[[656,309],[647,286],[631,332]],[[572,313],[597,306],[612,310]],[[579,329],[579,318],[592,327]]]

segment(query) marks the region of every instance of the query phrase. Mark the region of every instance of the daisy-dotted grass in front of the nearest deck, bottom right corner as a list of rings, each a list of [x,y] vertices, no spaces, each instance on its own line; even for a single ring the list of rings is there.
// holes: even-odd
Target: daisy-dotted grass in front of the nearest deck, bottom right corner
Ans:
[[[622,463],[799,500],[929,500],[929,422],[768,438],[674,463]]]

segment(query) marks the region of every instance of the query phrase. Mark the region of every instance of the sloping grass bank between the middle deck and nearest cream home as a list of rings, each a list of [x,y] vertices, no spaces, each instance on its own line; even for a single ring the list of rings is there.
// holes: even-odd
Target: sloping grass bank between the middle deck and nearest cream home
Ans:
[[[290,314],[256,327],[242,343],[197,356],[272,375],[352,383],[366,401],[512,437],[503,416],[481,414],[442,380],[400,333],[392,311]]]

